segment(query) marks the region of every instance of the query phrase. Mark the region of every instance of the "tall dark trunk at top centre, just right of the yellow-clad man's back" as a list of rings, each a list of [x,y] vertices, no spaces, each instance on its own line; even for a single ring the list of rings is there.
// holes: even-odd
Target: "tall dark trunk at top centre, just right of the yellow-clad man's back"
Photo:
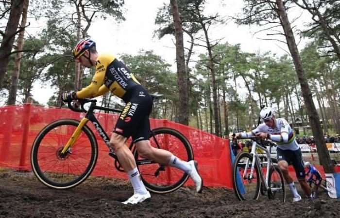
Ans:
[[[188,77],[186,71],[186,64],[184,59],[184,46],[183,46],[183,30],[178,12],[177,0],[170,0],[172,18],[175,28],[176,39],[176,64],[177,64],[177,82],[179,94],[179,123],[189,124],[189,97],[188,97]]]

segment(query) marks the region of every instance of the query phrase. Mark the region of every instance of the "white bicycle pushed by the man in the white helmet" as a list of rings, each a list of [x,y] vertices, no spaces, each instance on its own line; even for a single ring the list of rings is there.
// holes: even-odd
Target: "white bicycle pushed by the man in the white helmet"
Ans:
[[[253,140],[253,145],[250,153],[239,153],[233,164],[233,185],[238,200],[257,200],[260,193],[265,195],[267,192],[269,199],[285,202],[285,182],[277,166],[277,160],[271,157],[269,149],[263,146],[263,141],[258,137],[242,139]],[[270,147],[276,146],[276,143],[271,140],[267,140],[267,143]],[[257,149],[265,151],[265,155],[257,154]],[[260,156],[266,157],[267,162],[261,162]],[[264,170],[266,170],[266,177],[264,177]]]

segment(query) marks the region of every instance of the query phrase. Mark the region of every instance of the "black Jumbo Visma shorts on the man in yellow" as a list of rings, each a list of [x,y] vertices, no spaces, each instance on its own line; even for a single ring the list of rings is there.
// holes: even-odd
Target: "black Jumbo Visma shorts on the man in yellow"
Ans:
[[[149,115],[153,108],[153,100],[143,86],[134,86],[124,95],[126,105],[119,114],[113,132],[126,138],[132,137],[134,142],[149,140]]]

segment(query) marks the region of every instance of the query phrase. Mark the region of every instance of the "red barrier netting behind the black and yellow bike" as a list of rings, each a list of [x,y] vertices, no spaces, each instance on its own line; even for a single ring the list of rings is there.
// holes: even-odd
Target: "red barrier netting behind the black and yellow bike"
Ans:
[[[31,146],[45,125],[63,118],[81,120],[85,115],[69,109],[45,108],[31,104],[1,107],[0,114],[0,167],[20,170],[32,170]],[[118,116],[96,113],[96,117],[110,135]],[[126,173],[119,172],[114,167],[114,159],[108,156],[108,148],[94,126],[91,123],[87,125],[95,133],[99,147],[98,160],[92,175],[126,179]],[[229,140],[186,125],[151,119],[152,128],[162,126],[177,129],[190,141],[205,186],[233,187]],[[193,185],[190,179],[187,185]]]

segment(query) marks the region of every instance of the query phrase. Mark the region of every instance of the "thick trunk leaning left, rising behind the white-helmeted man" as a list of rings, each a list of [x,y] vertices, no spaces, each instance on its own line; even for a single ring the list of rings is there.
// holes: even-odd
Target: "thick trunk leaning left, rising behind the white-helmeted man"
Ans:
[[[278,6],[277,13],[278,13],[278,16],[280,17],[281,25],[285,32],[289,52],[293,58],[296,74],[299,78],[302,94],[305,99],[306,111],[308,113],[310,126],[312,128],[314,140],[316,142],[316,146],[318,149],[320,164],[323,165],[323,169],[326,173],[334,173],[335,172],[334,167],[331,163],[331,159],[330,159],[326,144],[323,140],[323,131],[320,126],[319,115],[316,111],[316,108],[313,102],[312,93],[310,92],[310,89],[309,89],[309,85],[306,79],[304,68],[302,67],[300,53],[295,42],[293,31],[290,27],[286,9],[283,5],[282,0],[276,0],[276,4]]]

